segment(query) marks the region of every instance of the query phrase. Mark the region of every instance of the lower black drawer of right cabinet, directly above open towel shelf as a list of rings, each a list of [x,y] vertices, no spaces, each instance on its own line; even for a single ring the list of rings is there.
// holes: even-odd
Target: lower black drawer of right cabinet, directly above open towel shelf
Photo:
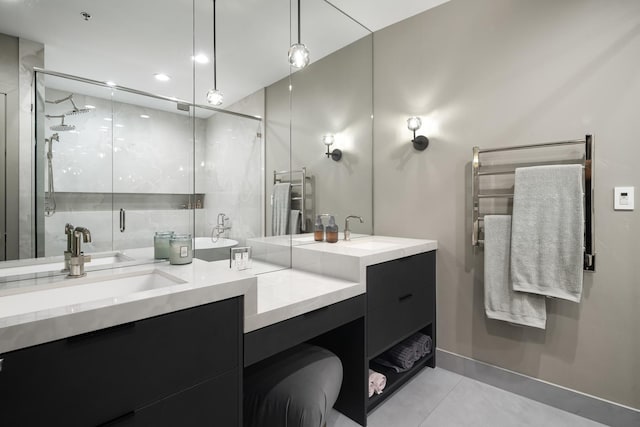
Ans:
[[[434,300],[424,293],[397,299],[367,313],[367,354],[377,356],[435,319]]]

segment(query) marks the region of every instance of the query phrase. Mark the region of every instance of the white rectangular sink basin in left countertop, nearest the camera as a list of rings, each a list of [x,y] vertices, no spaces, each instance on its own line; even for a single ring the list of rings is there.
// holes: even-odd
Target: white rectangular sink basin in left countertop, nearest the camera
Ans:
[[[159,270],[136,272],[97,279],[64,279],[57,287],[0,296],[2,316],[31,313],[105,298],[122,297],[136,292],[186,283]]]

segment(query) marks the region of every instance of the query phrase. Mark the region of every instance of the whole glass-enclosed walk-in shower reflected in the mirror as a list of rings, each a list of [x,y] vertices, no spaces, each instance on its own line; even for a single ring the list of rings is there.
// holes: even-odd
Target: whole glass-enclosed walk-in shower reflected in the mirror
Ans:
[[[63,254],[67,223],[91,230],[86,253],[170,230],[210,240],[212,260],[262,235],[260,118],[43,70],[35,81],[38,257]]]

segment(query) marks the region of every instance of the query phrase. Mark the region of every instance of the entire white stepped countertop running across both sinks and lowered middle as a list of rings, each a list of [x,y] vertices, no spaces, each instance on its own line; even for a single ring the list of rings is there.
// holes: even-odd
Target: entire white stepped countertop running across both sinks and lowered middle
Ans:
[[[277,246],[282,246],[279,237]],[[194,259],[187,265],[162,262],[92,271],[82,279],[40,277],[12,284],[0,291],[0,299],[29,286],[100,283],[151,271],[182,282],[44,309],[25,307],[16,312],[12,307],[9,315],[3,315],[0,303],[0,354],[239,295],[245,296],[244,330],[251,332],[365,293],[369,265],[437,249],[434,240],[387,236],[357,236],[337,243],[307,243],[308,235],[294,237],[305,244],[292,247],[293,268],[254,259],[251,269],[235,271],[228,261]],[[144,258],[147,252],[126,254]]]

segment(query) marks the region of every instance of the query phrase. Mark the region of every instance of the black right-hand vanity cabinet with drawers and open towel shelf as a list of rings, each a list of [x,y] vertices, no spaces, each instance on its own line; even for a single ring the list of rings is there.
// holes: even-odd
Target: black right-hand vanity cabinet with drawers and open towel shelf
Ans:
[[[367,267],[367,357],[372,360],[416,332],[431,337],[429,355],[406,372],[383,372],[387,385],[369,399],[380,404],[424,366],[435,367],[436,251]]]

